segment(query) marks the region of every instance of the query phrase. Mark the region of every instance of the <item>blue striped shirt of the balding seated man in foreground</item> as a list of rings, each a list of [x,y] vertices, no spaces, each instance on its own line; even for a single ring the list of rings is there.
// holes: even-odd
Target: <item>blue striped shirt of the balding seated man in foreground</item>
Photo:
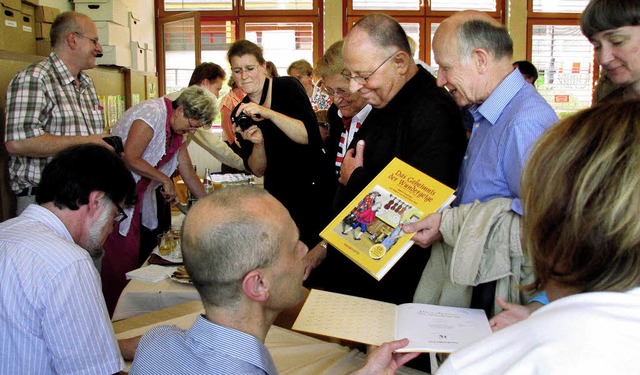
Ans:
[[[260,340],[198,316],[188,330],[152,328],[142,336],[129,374],[276,375]]]

